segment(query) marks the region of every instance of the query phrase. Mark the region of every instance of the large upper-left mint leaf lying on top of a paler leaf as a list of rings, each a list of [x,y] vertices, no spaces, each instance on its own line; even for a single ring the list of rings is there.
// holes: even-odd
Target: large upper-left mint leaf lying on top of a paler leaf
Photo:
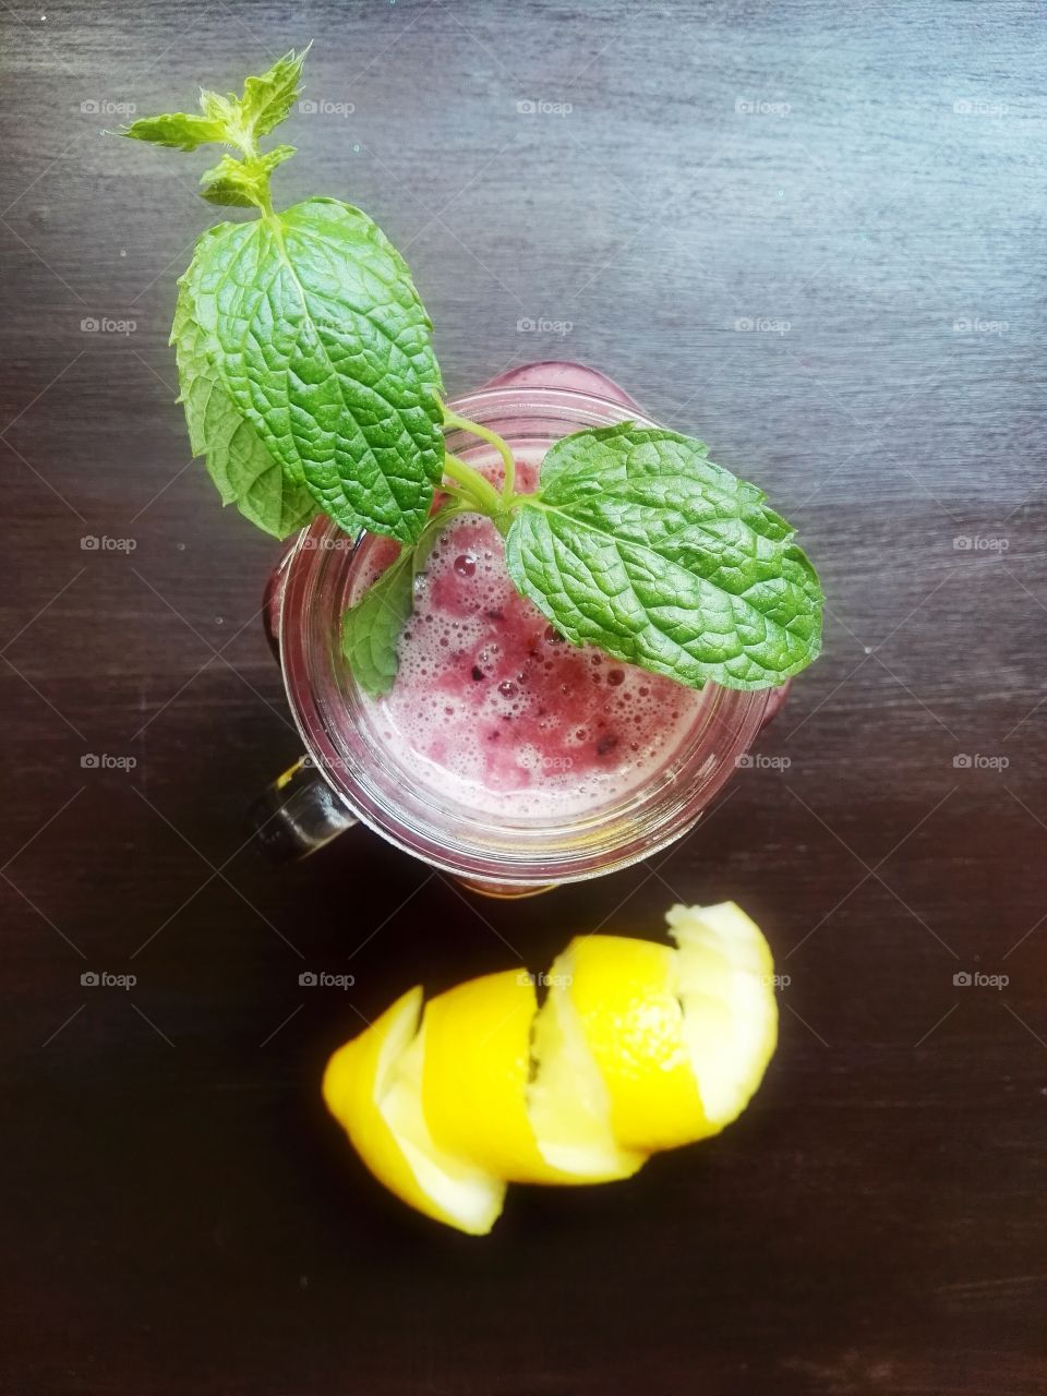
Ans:
[[[188,272],[207,353],[243,416],[348,533],[413,543],[444,462],[431,324],[366,214],[313,198],[221,223]]]

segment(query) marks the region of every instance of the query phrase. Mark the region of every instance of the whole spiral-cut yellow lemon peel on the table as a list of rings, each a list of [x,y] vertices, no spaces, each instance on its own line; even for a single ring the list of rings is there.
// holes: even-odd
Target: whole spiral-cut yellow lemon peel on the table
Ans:
[[[773,962],[733,902],[674,906],[676,946],[577,937],[544,977],[517,970],[403,994],[341,1047],[324,1099],[371,1173],[473,1235],[507,1182],[631,1177],[745,1108],[778,1039]]]

